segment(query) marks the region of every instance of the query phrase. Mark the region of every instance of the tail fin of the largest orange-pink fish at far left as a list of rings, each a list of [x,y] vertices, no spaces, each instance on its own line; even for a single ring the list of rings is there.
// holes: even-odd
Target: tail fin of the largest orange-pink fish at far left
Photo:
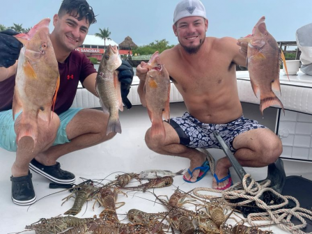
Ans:
[[[38,137],[38,123],[36,116],[31,111],[23,111],[21,114],[20,124],[18,125],[16,142],[22,137],[31,137],[33,139],[33,148],[36,146]]]

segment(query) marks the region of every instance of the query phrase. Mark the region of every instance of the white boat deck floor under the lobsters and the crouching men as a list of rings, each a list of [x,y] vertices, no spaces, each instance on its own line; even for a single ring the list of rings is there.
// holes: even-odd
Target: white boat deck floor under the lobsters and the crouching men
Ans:
[[[171,116],[181,116],[185,112],[184,103],[171,103]],[[82,182],[79,177],[88,179],[111,179],[118,174],[139,173],[148,169],[162,169],[173,172],[189,167],[189,160],[180,157],[170,157],[158,155],[149,150],[144,141],[144,135],[150,120],[146,109],[141,106],[132,107],[130,110],[125,110],[120,113],[120,123],[122,126],[122,134],[117,134],[111,141],[101,143],[98,146],[79,150],[75,153],[70,153],[59,159],[62,169],[72,171],[77,176],[76,184]],[[219,157],[224,157],[221,150],[210,150],[210,153],[217,160]],[[40,218],[56,217],[63,214],[72,207],[73,199],[61,205],[61,201],[69,192],[60,192],[61,189],[49,189],[49,180],[42,176],[33,173],[33,186],[35,187],[36,196],[39,201],[28,206],[15,205],[10,198],[10,167],[15,160],[15,153],[7,152],[0,149],[1,171],[0,171],[0,207],[1,207],[1,231],[0,233],[16,233],[24,230],[24,227],[33,224]],[[291,162],[284,160],[284,166],[287,176],[296,175],[303,176],[312,180],[312,164],[307,162]],[[253,178],[261,180],[267,176],[267,168],[260,169],[245,169],[247,173],[251,173]],[[239,182],[235,172],[231,169],[234,182]],[[104,180],[106,182],[108,180]],[[137,183],[131,183],[137,185]],[[182,180],[182,176],[174,177],[174,182],[171,187],[155,189],[157,195],[170,196],[173,191],[179,187],[185,192],[188,192],[195,187],[212,187],[212,175],[208,172],[207,176],[201,181],[194,184],[189,184]],[[58,194],[52,194],[59,192]],[[217,194],[216,194],[217,195]],[[44,196],[47,196],[43,198]],[[42,198],[42,199],[40,199]],[[145,200],[149,198],[152,201]],[[124,201],[125,205],[117,210],[119,219],[125,219],[125,214],[132,208],[137,208],[145,212],[160,212],[165,209],[162,205],[155,204],[155,198],[148,193],[130,192],[125,197],[122,194],[118,195],[118,201]],[[92,210],[93,201],[89,201],[88,205],[84,205],[82,211],[77,217],[93,217],[94,214],[100,214],[102,208],[96,206]],[[192,209],[192,205],[188,205]],[[127,220],[125,220],[127,222]],[[228,221],[234,224],[233,220]],[[287,233],[276,226],[263,228],[263,230],[272,230],[274,233]],[[29,231],[26,233],[35,233]]]

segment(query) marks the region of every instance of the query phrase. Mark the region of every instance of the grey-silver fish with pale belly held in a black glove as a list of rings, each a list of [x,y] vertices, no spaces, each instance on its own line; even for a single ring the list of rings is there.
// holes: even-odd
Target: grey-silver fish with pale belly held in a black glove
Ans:
[[[109,45],[102,56],[95,90],[99,95],[100,104],[104,113],[109,113],[107,132],[121,133],[118,110],[123,111],[123,102],[120,94],[120,81],[118,81],[117,68],[121,65],[116,45]]]

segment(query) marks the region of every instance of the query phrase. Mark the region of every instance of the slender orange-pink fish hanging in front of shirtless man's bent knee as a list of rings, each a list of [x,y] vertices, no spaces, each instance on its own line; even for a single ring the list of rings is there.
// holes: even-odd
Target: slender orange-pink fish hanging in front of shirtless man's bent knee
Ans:
[[[151,134],[165,137],[164,120],[169,120],[170,79],[169,73],[160,62],[158,52],[155,52],[144,66],[148,68],[145,82],[146,107],[152,121]]]

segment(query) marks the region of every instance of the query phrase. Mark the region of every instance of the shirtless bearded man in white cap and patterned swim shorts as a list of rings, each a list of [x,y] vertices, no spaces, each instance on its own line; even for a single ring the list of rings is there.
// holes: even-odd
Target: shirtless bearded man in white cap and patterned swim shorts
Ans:
[[[188,112],[181,118],[171,118],[170,123],[164,122],[166,139],[151,137],[150,129],[146,132],[146,144],[151,150],[190,159],[189,170],[184,175],[187,182],[200,180],[208,171],[205,154],[196,148],[220,148],[214,130],[219,131],[242,166],[267,166],[282,152],[281,140],[274,132],[242,116],[235,65],[246,65],[247,45],[237,44],[234,38],[205,37],[207,29],[208,20],[201,1],[178,3],[173,31],[180,44],[162,52],[160,59]],[[144,64],[137,67],[142,103],[147,72]],[[212,181],[214,189],[231,186],[230,167],[227,157],[217,161]]]

